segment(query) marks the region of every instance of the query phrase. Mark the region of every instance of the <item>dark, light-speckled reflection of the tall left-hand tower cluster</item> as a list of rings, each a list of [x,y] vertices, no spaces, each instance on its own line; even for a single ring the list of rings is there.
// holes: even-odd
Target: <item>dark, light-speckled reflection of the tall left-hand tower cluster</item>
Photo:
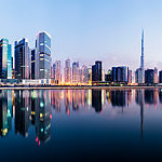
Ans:
[[[0,135],[6,136],[12,129],[13,114],[15,133],[28,137],[29,126],[36,127],[36,141],[48,141],[51,137],[50,91],[0,91]]]

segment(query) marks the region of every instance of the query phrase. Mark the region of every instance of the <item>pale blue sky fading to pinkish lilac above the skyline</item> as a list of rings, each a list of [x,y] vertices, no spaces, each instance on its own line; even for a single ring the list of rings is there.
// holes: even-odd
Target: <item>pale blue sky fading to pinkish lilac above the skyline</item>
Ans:
[[[35,48],[39,31],[52,37],[52,63],[79,60],[91,66],[139,67],[141,30],[145,67],[162,69],[161,0],[0,0],[0,38],[27,38]]]

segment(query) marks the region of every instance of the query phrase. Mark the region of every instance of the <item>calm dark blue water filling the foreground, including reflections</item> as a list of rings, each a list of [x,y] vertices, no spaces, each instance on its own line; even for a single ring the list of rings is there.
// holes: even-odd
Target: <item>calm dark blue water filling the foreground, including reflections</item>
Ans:
[[[1,161],[162,159],[162,90],[0,91]]]

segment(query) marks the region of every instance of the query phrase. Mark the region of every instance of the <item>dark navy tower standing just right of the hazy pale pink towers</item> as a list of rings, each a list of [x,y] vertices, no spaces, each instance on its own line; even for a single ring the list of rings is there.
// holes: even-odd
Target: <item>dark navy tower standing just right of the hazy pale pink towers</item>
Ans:
[[[95,62],[92,66],[92,82],[102,81],[102,62]]]

